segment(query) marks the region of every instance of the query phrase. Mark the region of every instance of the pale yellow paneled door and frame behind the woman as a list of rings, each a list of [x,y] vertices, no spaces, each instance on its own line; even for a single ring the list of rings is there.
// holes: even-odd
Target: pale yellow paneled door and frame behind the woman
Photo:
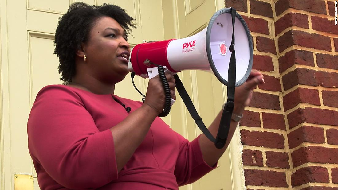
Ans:
[[[15,189],[20,179],[39,189],[37,174],[27,147],[27,119],[38,91],[49,84],[61,84],[58,59],[53,54],[54,32],[58,18],[73,0],[0,0],[0,187]],[[85,0],[89,4],[117,4],[136,19],[137,29],[131,46],[142,40],[182,38],[203,29],[212,14],[222,8],[217,0]],[[224,102],[224,88],[216,77],[195,71],[179,74],[208,126]],[[136,86],[146,92],[148,80],[135,77]],[[121,97],[141,100],[130,75],[116,86]],[[189,140],[200,134],[182,100],[178,97],[171,113],[164,118],[175,131]],[[192,185],[180,190],[234,189],[230,154],[227,151],[219,167]],[[238,164],[236,162],[236,164]],[[27,175],[21,175],[27,174]],[[32,178],[30,178],[32,175]],[[31,179],[31,180],[30,180]],[[33,183],[33,184],[30,184]],[[18,185],[16,186],[18,187]],[[32,189],[32,188],[30,188]]]

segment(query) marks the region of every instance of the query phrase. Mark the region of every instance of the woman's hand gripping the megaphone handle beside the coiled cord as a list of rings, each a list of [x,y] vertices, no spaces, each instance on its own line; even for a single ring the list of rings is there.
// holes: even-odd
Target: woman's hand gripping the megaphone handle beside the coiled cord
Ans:
[[[176,100],[174,75],[166,73],[166,77],[169,83],[171,98]],[[160,77],[157,75],[149,80],[144,105],[151,107],[156,113],[160,114],[164,109],[165,99],[164,88]]]

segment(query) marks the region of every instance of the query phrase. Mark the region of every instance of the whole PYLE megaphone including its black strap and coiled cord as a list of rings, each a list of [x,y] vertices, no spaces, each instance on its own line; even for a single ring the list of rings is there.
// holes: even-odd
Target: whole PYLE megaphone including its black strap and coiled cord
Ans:
[[[162,116],[169,113],[172,104],[169,86],[165,84],[164,67],[172,73],[183,70],[213,73],[221,83],[228,86],[228,100],[223,108],[216,138],[199,117],[178,76],[174,77],[177,91],[197,126],[217,148],[222,148],[226,143],[233,118],[235,87],[243,84],[249,77],[253,56],[254,47],[244,19],[236,9],[224,8],[212,16],[208,27],[193,36],[136,45],[131,50],[128,70],[132,72],[132,78],[135,74],[149,78],[153,77],[153,72],[156,71],[153,67],[158,68],[166,93],[166,105]]]

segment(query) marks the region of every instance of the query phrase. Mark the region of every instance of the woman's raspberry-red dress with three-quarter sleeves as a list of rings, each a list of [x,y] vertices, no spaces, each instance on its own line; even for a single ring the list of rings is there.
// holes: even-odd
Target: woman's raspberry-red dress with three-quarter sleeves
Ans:
[[[143,142],[117,172],[110,131],[142,103],[65,85],[40,90],[28,119],[28,148],[39,186],[50,189],[178,189],[215,168],[156,117]],[[126,139],[128,140],[128,139]]]

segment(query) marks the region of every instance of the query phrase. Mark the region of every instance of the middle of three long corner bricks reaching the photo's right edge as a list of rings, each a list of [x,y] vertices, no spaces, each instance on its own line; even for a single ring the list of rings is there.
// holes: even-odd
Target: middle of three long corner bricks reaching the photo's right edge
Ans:
[[[319,108],[298,108],[287,116],[290,129],[300,123],[338,126],[338,111]]]

